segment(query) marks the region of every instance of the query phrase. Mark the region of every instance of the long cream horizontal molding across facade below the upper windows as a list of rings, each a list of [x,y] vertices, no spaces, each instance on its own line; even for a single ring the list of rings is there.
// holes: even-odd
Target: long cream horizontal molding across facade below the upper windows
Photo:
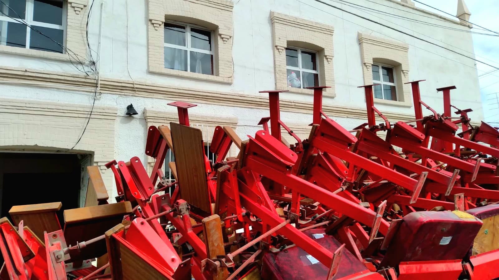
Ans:
[[[7,82],[5,82],[6,80]],[[85,75],[0,66],[0,84],[8,83],[8,81],[25,82],[25,86],[30,86],[29,83],[36,83],[32,86],[66,90],[74,89],[64,87],[78,87],[83,88],[82,90],[87,92],[93,92],[93,88],[95,88],[95,79]],[[142,81],[135,81],[134,85],[132,81],[129,80],[110,79],[105,77],[101,77],[100,91],[109,94],[186,101],[198,104],[268,109],[268,98],[266,97],[175,87]],[[284,112],[312,114],[313,104],[310,102],[281,99],[280,109]],[[323,104],[322,110],[329,117],[355,118],[367,122],[367,112],[362,108]],[[383,112],[383,115],[391,123],[414,119],[414,116],[404,113]],[[473,122],[473,124],[480,124],[480,122]]]

